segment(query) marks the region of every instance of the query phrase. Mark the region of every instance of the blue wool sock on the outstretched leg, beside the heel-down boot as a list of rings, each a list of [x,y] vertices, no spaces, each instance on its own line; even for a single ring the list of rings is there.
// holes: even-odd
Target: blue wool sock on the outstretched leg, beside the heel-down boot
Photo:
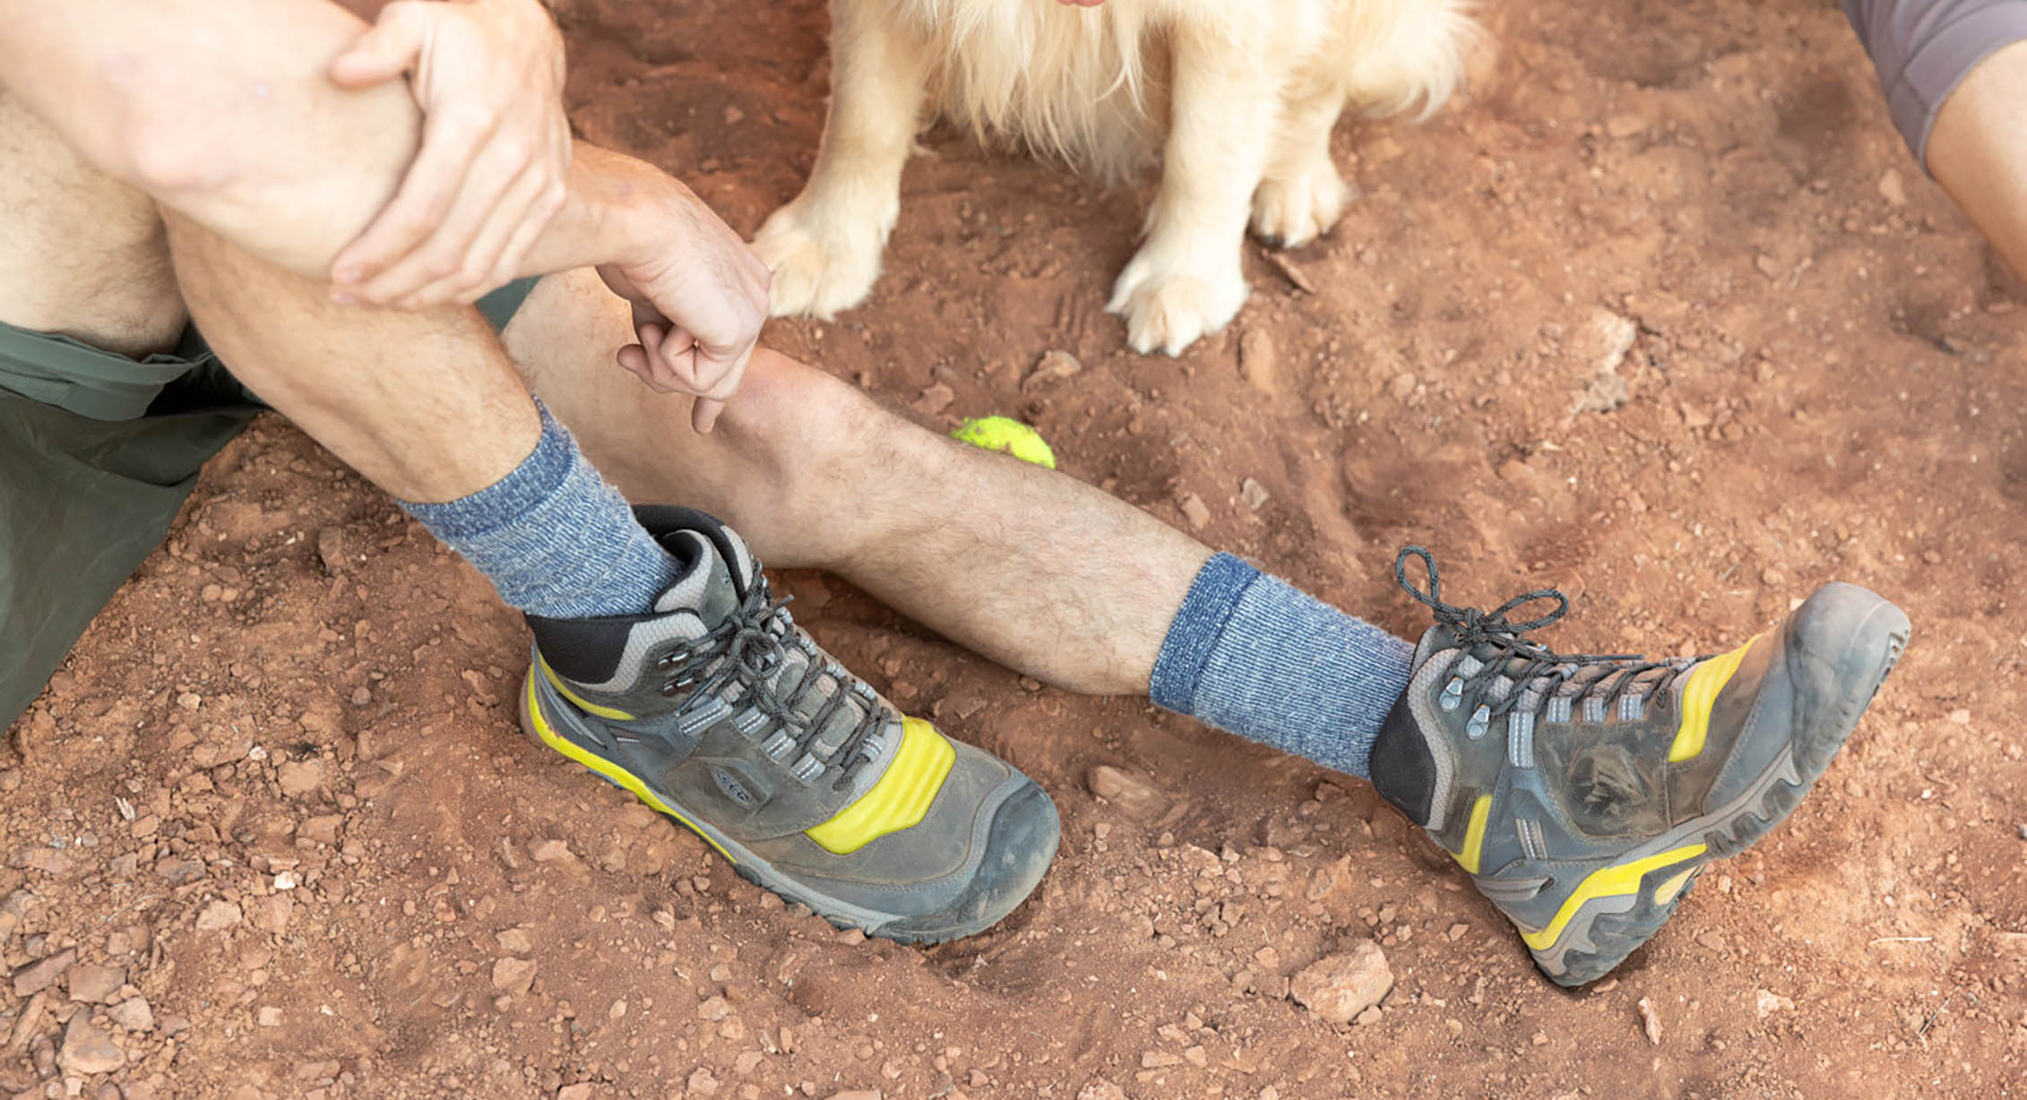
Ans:
[[[1190,583],[1153,662],[1153,701],[1326,768],[1366,760],[1415,646],[1220,553]]]

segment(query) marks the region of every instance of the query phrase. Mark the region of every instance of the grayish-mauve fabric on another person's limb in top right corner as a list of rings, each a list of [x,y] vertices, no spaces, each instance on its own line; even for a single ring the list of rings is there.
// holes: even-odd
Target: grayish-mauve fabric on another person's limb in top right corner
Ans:
[[[1893,126],[1928,170],[1928,130],[1956,85],[1999,47],[2027,38],[2027,0],[1843,0],[1873,55]]]

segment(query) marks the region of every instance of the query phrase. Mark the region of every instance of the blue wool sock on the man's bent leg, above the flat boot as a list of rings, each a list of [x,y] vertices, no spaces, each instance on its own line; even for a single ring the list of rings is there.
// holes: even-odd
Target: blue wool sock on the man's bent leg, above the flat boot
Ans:
[[[616,488],[541,407],[541,438],[511,474],[407,515],[464,555],[501,600],[531,616],[636,616],[681,575],[681,563],[634,523]]]

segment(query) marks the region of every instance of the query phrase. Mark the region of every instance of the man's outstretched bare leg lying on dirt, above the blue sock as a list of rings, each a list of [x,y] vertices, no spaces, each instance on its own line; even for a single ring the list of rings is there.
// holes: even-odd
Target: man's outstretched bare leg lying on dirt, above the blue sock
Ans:
[[[586,271],[543,280],[507,326],[535,393],[628,496],[709,510],[768,565],[829,569],[1036,679],[1147,691],[1210,549],[766,350],[718,429],[697,436],[685,397],[649,393],[612,365],[626,340],[626,306]]]

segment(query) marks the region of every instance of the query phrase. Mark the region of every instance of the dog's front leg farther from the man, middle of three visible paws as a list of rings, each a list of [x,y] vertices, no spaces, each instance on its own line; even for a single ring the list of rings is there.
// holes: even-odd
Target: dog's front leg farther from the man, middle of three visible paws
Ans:
[[[1176,28],[1176,85],[1161,190],[1141,245],[1105,308],[1133,350],[1178,355],[1224,328],[1247,300],[1238,267],[1253,190],[1267,168],[1279,75],[1255,43]]]

